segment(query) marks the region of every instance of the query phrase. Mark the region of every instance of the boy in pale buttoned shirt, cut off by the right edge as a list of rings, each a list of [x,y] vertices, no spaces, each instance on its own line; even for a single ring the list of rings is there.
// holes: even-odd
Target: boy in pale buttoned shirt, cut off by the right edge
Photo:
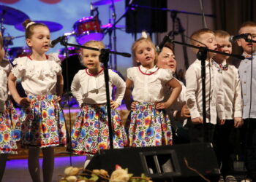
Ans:
[[[249,33],[247,38],[256,41],[256,23],[243,23],[238,33]],[[238,67],[244,101],[244,125],[241,127],[241,137],[244,143],[243,149],[246,150],[246,170],[252,181],[256,181],[256,44],[246,42],[245,39],[238,39],[237,43],[243,48],[245,56]]]

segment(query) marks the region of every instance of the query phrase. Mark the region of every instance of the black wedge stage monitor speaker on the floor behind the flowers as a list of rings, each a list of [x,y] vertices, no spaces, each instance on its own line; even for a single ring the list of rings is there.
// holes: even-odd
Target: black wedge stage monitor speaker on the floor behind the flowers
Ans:
[[[201,174],[212,182],[219,180],[220,173],[211,143],[102,150],[86,169],[112,173],[115,165],[128,168],[134,176],[144,173],[153,181],[205,181]]]

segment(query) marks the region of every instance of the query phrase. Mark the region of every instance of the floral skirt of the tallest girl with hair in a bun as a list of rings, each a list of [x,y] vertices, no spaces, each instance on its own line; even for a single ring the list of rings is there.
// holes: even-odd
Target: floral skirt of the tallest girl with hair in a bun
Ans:
[[[31,104],[21,110],[22,147],[66,146],[64,114],[56,95],[31,96]]]

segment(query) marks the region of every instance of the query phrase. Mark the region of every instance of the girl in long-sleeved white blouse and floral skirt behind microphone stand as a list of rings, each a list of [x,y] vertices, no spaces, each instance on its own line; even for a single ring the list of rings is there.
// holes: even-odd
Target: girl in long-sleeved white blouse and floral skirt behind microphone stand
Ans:
[[[89,41],[87,47],[105,48],[101,41]],[[104,72],[99,62],[99,51],[82,51],[82,63],[86,69],[78,71],[71,85],[72,94],[78,100],[80,112],[72,128],[72,151],[75,154],[95,154],[99,149],[109,149],[109,137],[114,148],[124,148],[127,138],[116,108],[124,97],[125,82],[118,74],[108,70],[110,93],[116,86],[116,99],[110,101],[113,136],[108,135],[107,99]],[[111,99],[111,95],[110,95]]]

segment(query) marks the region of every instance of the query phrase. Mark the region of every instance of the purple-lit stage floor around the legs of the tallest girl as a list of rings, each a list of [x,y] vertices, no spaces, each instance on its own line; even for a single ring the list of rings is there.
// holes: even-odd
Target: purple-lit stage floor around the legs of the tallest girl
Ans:
[[[83,167],[86,160],[85,156],[72,156],[72,166]],[[42,179],[42,159],[39,159]],[[55,157],[53,172],[53,182],[59,181],[59,175],[64,174],[65,167],[70,165],[70,157]],[[4,172],[2,182],[31,182],[27,159],[10,159]]]

